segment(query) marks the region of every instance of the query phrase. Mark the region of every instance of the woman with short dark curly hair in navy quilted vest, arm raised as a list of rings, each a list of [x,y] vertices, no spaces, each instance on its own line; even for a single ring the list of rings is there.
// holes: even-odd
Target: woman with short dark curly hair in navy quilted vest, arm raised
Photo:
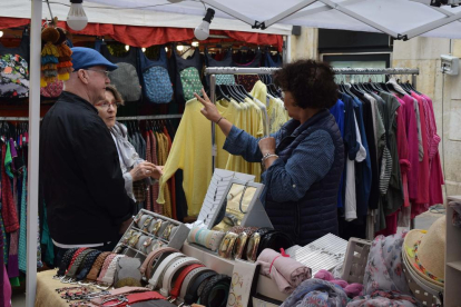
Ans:
[[[274,73],[292,118],[271,137],[256,139],[223,118],[209,101],[202,113],[226,135],[224,149],[249,162],[262,161],[265,208],[275,229],[304,246],[337,235],[337,191],[344,145],[328,109],[337,101],[334,71],[323,62],[298,60]]]

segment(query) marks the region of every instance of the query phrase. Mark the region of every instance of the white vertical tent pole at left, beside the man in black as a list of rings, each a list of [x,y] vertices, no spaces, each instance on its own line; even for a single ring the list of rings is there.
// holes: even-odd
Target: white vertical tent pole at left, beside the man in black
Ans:
[[[41,0],[32,0],[30,22],[30,91],[29,91],[29,159],[27,194],[27,279],[26,306],[36,303],[37,289],[37,231],[39,200],[39,129],[40,129],[40,49]]]

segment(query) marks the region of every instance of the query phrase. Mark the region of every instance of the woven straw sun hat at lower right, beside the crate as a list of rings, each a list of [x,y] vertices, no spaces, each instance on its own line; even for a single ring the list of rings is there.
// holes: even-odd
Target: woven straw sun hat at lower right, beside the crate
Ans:
[[[413,229],[403,241],[404,260],[419,281],[443,288],[445,278],[445,217],[435,220],[429,230]]]

